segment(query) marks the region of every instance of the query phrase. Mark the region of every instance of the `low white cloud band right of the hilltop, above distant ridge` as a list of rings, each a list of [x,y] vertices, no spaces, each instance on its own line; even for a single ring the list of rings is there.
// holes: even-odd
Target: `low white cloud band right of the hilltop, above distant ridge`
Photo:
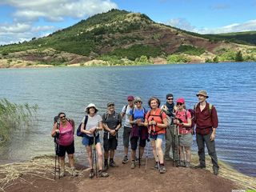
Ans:
[[[250,20],[242,23],[233,23],[228,26],[221,26],[218,28],[196,28],[192,26],[190,22],[187,22],[184,18],[175,18],[171,19],[168,22],[165,22],[166,25],[178,27],[182,30],[192,31],[198,34],[223,34],[223,33],[232,33],[232,32],[242,32],[256,30],[256,19]]]

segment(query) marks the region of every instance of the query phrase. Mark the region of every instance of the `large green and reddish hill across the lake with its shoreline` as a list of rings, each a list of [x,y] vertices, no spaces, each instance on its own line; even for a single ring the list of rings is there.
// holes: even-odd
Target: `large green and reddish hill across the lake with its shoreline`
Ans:
[[[146,14],[110,10],[44,38],[0,46],[0,67],[242,61],[256,60],[255,53],[255,46],[179,30]]]

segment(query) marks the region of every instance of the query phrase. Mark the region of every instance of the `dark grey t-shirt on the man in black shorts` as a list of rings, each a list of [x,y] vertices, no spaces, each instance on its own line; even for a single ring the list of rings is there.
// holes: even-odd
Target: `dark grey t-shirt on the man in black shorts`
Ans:
[[[102,122],[106,123],[110,130],[114,130],[120,123],[122,123],[122,118],[121,115],[115,111],[113,114],[108,114],[108,112],[106,112],[102,115]]]

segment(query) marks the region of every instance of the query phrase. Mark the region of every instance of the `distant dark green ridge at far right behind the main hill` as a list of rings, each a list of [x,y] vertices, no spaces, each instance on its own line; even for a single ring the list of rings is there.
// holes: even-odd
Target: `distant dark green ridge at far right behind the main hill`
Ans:
[[[230,42],[237,42],[248,45],[256,45],[256,31],[246,31],[228,34],[206,34],[209,38],[228,39]]]

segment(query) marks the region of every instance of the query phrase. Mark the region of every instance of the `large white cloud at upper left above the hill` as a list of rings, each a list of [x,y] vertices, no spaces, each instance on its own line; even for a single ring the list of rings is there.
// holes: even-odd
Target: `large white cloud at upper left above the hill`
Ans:
[[[85,18],[93,14],[106,12],[118,8],[117,4],[110,0],[2,0],[0,4],[14,6],[16,21],[37,21],[45,18],[50,22],[61,22],[65,17]]]

